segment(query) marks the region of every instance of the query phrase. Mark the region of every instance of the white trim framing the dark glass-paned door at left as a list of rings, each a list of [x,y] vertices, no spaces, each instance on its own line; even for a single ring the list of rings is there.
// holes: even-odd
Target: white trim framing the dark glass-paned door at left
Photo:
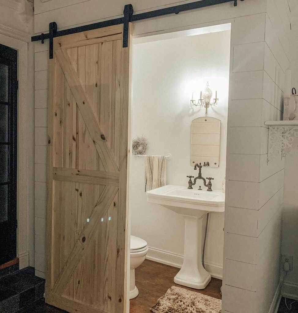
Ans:
[[[0,29],[1,32],[1,29]],[[28,154],[26,145],[26,97],[28,74],[28,43],[0,33],[0,43],[18,50],[18,148],[17,148],[17,257],[20,269],[29,266],[28,230]]]

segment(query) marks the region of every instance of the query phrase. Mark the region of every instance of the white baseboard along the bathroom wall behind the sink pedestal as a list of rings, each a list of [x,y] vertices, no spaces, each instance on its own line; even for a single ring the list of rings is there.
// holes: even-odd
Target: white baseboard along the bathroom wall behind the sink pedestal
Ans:
[[[175,254],[169,251],[160,250],[149,247],[149,251],[146,255],[146,259],[181,268],[183,263],[183,255]],[[211,277],[222,280],[222,265],[212,264],[205,261],[205,268],[210,273]]]

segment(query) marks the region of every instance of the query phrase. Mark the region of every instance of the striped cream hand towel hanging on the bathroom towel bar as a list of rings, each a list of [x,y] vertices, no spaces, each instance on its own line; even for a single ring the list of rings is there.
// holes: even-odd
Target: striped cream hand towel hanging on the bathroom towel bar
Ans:
[[[166,185],[165,156],[146,156],[145,192]]]

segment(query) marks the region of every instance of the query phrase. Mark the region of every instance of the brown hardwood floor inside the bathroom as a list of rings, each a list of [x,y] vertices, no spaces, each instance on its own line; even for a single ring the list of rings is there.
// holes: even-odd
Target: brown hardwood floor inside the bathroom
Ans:
[[[139,295],[130,300],[129,312],[149,313],[158,298],[164,295],[171,286],[182,287],[217,299],[222,298],[220,294],[221,280],[212,278],[211,282],[204,290],[196,290],[174,283],[173,279],[178,271],[179,269],[175,267],[145,260],[144,263],[136,269],[136,286],[139,289]]]

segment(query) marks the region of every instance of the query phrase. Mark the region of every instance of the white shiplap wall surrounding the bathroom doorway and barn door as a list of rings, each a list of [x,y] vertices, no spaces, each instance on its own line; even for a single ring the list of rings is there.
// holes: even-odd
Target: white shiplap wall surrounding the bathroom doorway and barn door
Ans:
[[[124,4],[113,0],[103,7],[97,0],[68,0],[63,5],[58,0],[35,0],[35,33],[46,31],[53,20],[59,28],[66,28],[118,16]],[[140,12],[172,3],[135,0],[132,4]],[[134,24],[134,34],[140,35],[232,23],[222,303],[226,312],[268,312],[278,287],[284,172],[281,162],[267,166],[264,121],[277,120],[281,114],[289,63],[287,8],[286,0],[247,0],[237,8],[233,3],[221,4]],[[47,44],[35,44],[35,157],[39,160],[35,172],[35,266],[39,275],[45,270]]]

